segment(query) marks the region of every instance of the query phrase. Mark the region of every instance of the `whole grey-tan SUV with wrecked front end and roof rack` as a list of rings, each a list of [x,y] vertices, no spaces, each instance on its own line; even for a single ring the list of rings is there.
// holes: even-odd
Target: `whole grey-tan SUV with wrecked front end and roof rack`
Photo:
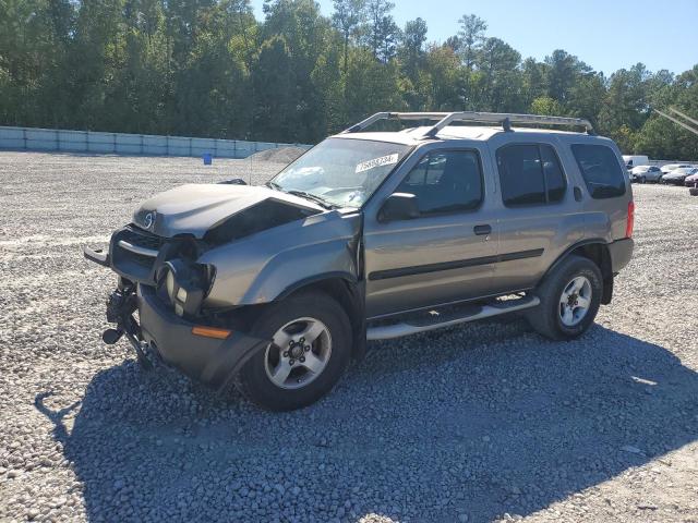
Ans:
[[[364,131],[388,120],[422,123]],[[510,313],[553,340],[580,336],[630,259],[633,217],[619,151],[586,120],[393,112],[266,186],[155,196],[108,253],[85,256],[118,275],[106,343],[125,337],[144,365],[158,355],[292,410],[327,393],[366,340]]]

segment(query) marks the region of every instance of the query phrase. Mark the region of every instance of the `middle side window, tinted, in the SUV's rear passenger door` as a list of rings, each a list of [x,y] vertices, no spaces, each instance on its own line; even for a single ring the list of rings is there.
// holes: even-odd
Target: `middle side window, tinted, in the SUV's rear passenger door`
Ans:
[[[507,207],[545,205],[565,196],[565,175],[550,145],[502,147],[497,150],[497,169]]]

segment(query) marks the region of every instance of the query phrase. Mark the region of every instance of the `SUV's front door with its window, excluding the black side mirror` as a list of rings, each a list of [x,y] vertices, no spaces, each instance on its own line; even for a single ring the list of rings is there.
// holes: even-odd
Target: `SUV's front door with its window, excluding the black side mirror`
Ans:
[[[370,318],[488,293],[497,224],[486,203],[483,158],[478,148],[432,149],[407,174],[394,173],[397,182],[365,217]],[[376,210],[393,193],[414,194],[419,217],[378,221]]]

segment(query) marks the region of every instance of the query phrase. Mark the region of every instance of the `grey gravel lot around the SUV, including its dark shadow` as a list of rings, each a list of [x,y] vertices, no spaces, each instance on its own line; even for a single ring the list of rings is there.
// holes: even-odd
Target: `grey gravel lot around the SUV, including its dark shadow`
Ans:
[[[99,335],[82,258],[148,195],[278,166],[0,153],[0,521],[698,521],[698,198],[636,186],[636,255],[582,339],[521,320],[371,343],[269,414]]]

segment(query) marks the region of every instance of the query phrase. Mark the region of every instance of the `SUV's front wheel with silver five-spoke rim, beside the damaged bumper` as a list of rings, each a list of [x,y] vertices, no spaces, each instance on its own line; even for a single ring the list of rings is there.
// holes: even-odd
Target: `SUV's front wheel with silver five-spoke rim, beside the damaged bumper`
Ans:
[[[252,328],[252,335],[275,342],[245,363],[236,376],[236,388],[269,411],[308,406],[328,393],[349,366],[351,332],[347,314],[325,293],[308,292],[275,303]],[[309,335],[316,337],[301,342]]]

